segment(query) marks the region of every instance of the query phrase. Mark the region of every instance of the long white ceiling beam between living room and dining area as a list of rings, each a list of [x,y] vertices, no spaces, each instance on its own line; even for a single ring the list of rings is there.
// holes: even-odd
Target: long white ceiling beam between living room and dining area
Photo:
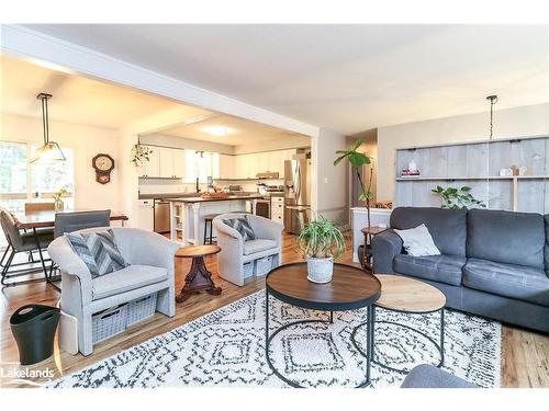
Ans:
[[[320,127],[260,109],[96,50],[22,27],[2,25],[2,50],[59,65],[80,75],[131,87],[206,110],[317,137]]]

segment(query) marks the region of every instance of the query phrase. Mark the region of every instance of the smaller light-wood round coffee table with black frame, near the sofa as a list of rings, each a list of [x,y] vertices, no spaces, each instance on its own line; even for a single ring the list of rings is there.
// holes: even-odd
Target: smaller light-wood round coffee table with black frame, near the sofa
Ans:
[[[407,374],[410,369],[400,369],[391,367],[388,364],[381,363],[376,358],[376,324],[386,323],[399,326],[415,332],[419,335],[423,335],[428,341],[430,341],[435,347],[438,350],[440,354],[440,362],[436,365],[440,367],[445,361],[444,353],[444,342],[445,342],[445,305],[446,297],[445,295],[436,287],[408,277],[403,277],[400,275],[392,274],[376,274],[378,279],[381,282],[381,297],[376,301],[374,307],[372,309],[372,345],[371,361],[386,369],[391,369],[393,372]],[[427,335],[426,333],[416,330],[415,328],[397,323],[393,321],[377,321],[376,320],[376,310],[378,308],[382,308],[385,310],[407,313],[407,315],[425,315],[429,312],[440,311],[440,335],[439,341],[435,341],[434,338]]]

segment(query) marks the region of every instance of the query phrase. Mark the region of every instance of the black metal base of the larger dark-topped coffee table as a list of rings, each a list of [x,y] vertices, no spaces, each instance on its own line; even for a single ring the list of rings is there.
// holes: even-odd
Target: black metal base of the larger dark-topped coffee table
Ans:
[[[329,319],[328,320],[300,320],[300,321],[293,321],[288,324],[284,324],[280,328],[278,328],[270,336],[269,336],[269,290],[266,289],[266,295],[265,295],[265,356],[267,358],[267,364],[269,365],[269,368],[274,373],[277,377],[279,377],[282,381],[288,384],[291,387],[294,388],[306,388],[304,386],[299,385],[295,381],[292,381],[291,379],[285,378],[272,364],[271,358],[270,358],[270,344],[272,342],[272,339],[277,336],[278,333],[282,332],[283,330],[296,326],[296,324],[303,324],[303,323],[310,323],[310,322],[321,322],[321,323],[333,323],[334,322],[334,311],[329,311]],[[371,384],[370,375],[371,375],[371,356],[368,355],[368,353],[373,352],[373,324],[371,323],[371,319],[373,319],[373,306],[368,306],[368,319],[366,322],[357,326],[350,336],[350,341],[352,342],[352,345],[355,349],[366,357],[366,379],[360,383],[358,386],[355,388],[363,388],[368,387]],[[357,344],[355,340],[355,334],[357,333],[358,329],[362,328],[363,326],[367,326],[367,351],[368,353],[365,353],[359,345]]]

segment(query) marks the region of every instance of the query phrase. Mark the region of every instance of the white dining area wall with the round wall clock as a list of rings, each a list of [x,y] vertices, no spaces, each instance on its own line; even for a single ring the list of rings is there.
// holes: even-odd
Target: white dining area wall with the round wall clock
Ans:
[[[43,144],[42,119],[14,114],[1,114],[0,139],[7,141]],[[120,155],[116,130],[63,122],[49,122],[49,138],[75,152],[75,207],[123,212],[121,205],[120,165],[126,158]],[[96,182],[91,159],[98,153],[114,159],[111,182]]]

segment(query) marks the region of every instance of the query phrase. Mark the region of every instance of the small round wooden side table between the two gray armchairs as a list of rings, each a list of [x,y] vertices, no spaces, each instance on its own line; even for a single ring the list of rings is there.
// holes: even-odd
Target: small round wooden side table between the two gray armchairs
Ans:
[[[221,287],[216,287],[212,281],[210,273],[204,264],[204,256],[217,254],[221,248],[217,246],[191,246],[183,247],[176,252],[176,256],[180,259],[192,259],[191,270],[184,278],[184,286],[176,297],[177,302],[183,302],[192,294],[206,292],[210,295],[219,296]]]

